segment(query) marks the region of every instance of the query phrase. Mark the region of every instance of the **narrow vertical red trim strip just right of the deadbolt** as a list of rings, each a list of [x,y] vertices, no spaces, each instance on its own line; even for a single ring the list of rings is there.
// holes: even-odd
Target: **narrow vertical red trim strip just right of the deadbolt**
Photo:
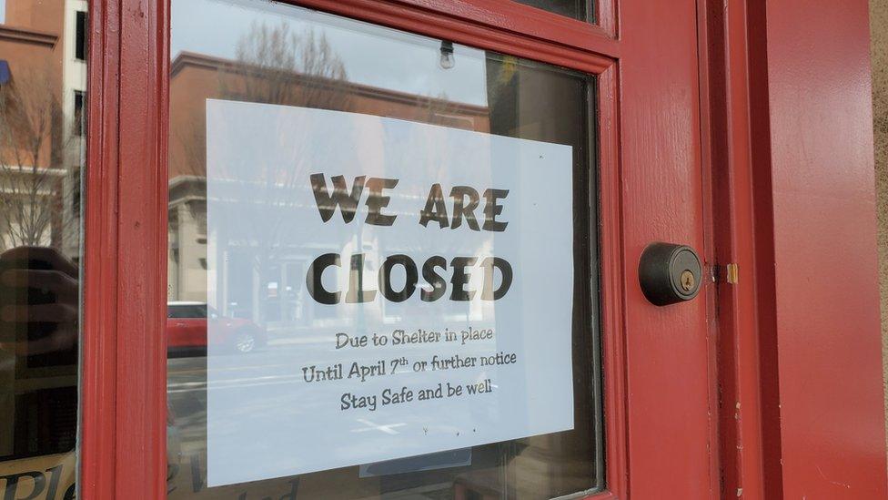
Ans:
[[[709,134],[703,153],[709,165],[704,172],[710,174],[707,228],[718,277],[711,318],[719,332],[721,495],[776,498],[765,495],[763,474],[764,456],[773,450],[766,452],[762,439],[762,383],[772,379],[760,376],[746,5],[711,0],[704,5],[703,119]],[[729,264],[738,266],[736,283],[727,281]],[[776,446],[779,456],[779,439]]]

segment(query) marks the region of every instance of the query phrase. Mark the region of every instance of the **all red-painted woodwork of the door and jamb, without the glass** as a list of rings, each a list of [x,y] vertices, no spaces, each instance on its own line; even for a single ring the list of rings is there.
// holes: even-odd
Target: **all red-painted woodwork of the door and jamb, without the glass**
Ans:
[[[662,497],[665,492],[715,498],[721,495],[721,479],[723,492],[743,488],[746,498],[762,498],[765,492],[773,494],[768,498],[799,497],[804,491],[829,492],[832,498],[884,492],[872,157],[866,156],[872,140],[869,122],[862,125],[869,115],[861,104],[869,103],[864,98],[869,87],[862,83],[869,74],[865,1],[849,6],[769,0],[750,2],[746,12],[743,2],[729,1],[723,9],[719,2],[700,0],[695,14],[693,9],[678,11],[674,3],[622,0],[618,9],[602,0],[600,26],[505,0],[299,3],[600,75],[600,188],[604,200],[612,201],[602,204],[601,213],[609,332],[603,357],[608,372],[621,375],[605,380],[609,493],[597,498]],[[802,15],[811,26],[800,27]],[[160,498],[166,488],[166,346],[161,334],[166,317],[166,0],[93,2],[90,19],[86,248],[100,250],[87,252],[84,260],[80,485],[87,499]],[[845,23],[841,32],[831,32],[833,19]],[[688,46],[688,34],[696,34],[698,26],[704,26],[699,42],[693,38]],[[832,36],[823,37],[824,32]],[[799,35],[822,51],[802,52],[803,45],[790,38]],[[658,43],[656,50],[651,41]],[[699,52],[701,64],[694,59],[689,67],[690,57],[676,57],[685,64],[663,61],[664,55],[669,59],[680,51]],[[793,56],[811,68],[792,64]],[[614,60],[620,61],[619,80]],[[846,64],[836,67],[836,60]],[[662,87],[653,80],[687,81],[689,70],[701,77],[699,96],[696,88],[690,95],[658,95]],[[785,119],[799,100],[787,89],[811,88],[815,77],[818,86],[825,86],[817,88],[833,90],[816,93],[820,109],[843,120],[801,128]],[[835,91],[830,82],[853,85]],[[619,113],[618,97],[623,102]],[[644,107],[626,106],[636,101]],[[669,125],[702,130],[699,143],[663,138],[659,150],[625,143],[621,148],[621,137],[644,137],[658,117],[674,113],[685,121]],[[810,176],[802,161],[812,159],[804,156],[810,152],[785,148],[784,137],[822,139],[832,146],[833,157],[853,161],[830,169],[831,158],[817,148],[813,155],[820,168]],[[702,158],[694,159],[692,151],[700,145]],[[716,168],[689,169],[663,163],[663,158],[688,158]],[[688,178],[689,170],[702,177]],[[626,186],[650,183],[651,174],[665,179],[664,188],[656,191],[659,200],[644,204],[624,198]],[[812,178],[819,180],[811,183]],[[844,202],[804,196],[826,189],[839,189]],[[783,200],[789,193],[792,203]],[[703,196],[712,202],[702,203]],[[823,203],[829,217],[823,215]],[[682,217],[690,213],[701,223],[689,225],[694,228],[651,222],[663,219],[664,207]],[[858,220],[860,214],[867,219]],[[706,240],[699,230],[703,220],[711,226]],[[805,234],[820,235],[817,249],[802,247]],[[720,276],[725,263],[740,264],[742,281],[728,285],[720,280],[708,287],[718,302],[717,316],[704,301],[658,310],[643,300],[633,286],[635,265],[651,240],[705,249]],[[820,250],[831,244],[837,251]],[[833,256],[839,254],[837,266]],[[784,260],[786,267],[775,270],[771,264]],[[809,269],[816,269],[816,276]],[[822,292],[807,283],[825,287],[836,279],[843,280],[841,293],[830,295],[830,307],[823,308]],[[830,315],[835,308],[854,311],[865,334],[844,330],[842,318]],[[710,327],[703,321],[707,314]],[[819,349],[809,345],[801,328],[816,333]],[[714,332],[721,335],[717,344]],[[656,367],[669,360],[658,356],[670,349],[687,353],[691,361],[670,372],[669,380],[660,380],[677,385],[658,393],[643,381],[663,378]],[[833,355],[843,362],[844,379],[832,372]],[[717,394],[710,391],[716,377],[721,411]],[[848,379],[860,381],[852,393],[857,403],[848,403]],[[818,383],[818,389],[805,387],[806,380]],[[713,409],[713,416],[682,414],[681,404],[688,402],[664,395],[679,388],[689,399],[705,400],[698,403]],[[701,429],[709,435],[706,449],[682,446],[699,441]],[[716,449],[720,441],[721,452]],[[781,459],[789,462],[781,467]],[[676,460],[695,473],[667,474],[664,464]]]

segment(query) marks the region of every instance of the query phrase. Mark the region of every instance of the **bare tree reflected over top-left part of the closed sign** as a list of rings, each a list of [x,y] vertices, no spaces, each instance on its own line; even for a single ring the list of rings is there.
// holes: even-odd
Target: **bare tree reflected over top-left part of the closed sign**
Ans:
[[[240,78],[222,80],[222,96],[233,100],[348,110],[348,77],[345,65],[329,46],[327,37],[309,30],[294,34],[286,23],[277,26],[254,23],[237,44],[237,66]],[[301,133],[300,133],[301,132]],[[304,130],[288,130],[279,138],[281,147],[304,150]],[[233,203],[226,218],[244,219],[241,228],[251,228],[249,234],[224,235],[229,244],[251,249],[253,270],[265,287],[266,281],[278,281],[271,270],[274,263],[286,259],[281,241],[289,240],[288,233],[298,228],[288,224],[287,207],[298,179],[305,179],[305,168],[310,163],[303,154],[297,154],[294,163],[259,164],[256,179],[261,193],[260,205],[241,199]],[[219,235],[223,237],[223,235]],[[279,270],[278,270],[279,272]],[[267,311],[254,311],[254,319],[267,320]]]

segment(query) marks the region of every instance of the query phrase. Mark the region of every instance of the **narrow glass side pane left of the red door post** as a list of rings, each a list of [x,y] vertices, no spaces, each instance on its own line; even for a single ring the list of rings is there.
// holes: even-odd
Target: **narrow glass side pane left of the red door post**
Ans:
[[[74,2],[7,2],[0,22],[0,492],[74,498],[80,311],[80,127]],[[83,2],[86,6],[86,2]],[[44,44],[45,34],[58,42]],[[68,52],[70,51],[70,52]],[[85,66],[81,64],[80,66]]]

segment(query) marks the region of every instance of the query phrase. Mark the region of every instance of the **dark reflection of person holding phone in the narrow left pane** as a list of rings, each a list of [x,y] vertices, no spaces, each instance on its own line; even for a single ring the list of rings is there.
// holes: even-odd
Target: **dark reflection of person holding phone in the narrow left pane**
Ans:
[[[0,462],[74,449],[78,311],[78,270],[58,250],[0,254]]]

